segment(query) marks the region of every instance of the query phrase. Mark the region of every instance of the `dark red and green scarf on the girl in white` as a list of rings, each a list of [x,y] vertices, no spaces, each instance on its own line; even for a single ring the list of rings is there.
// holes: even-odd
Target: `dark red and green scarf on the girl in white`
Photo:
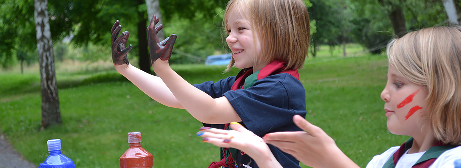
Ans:
[[[399,158],[408,151],[413,145],[413,138],[408,139],[407,142],[403,143],[400,148],[394,153],[394,156],[390,157],[386,163],[384,163],[383,168],[395,168],[397,161]],[[434,145],[432,145],[429,150],[427,150],[423,156],[412,166],[412,168],[429,168],[432,163],[435,162],[438,156],[442,155],[443,152],[453,149],[457,146],[454,145],[446,145],[443,144],[441,141],[437,141]]]

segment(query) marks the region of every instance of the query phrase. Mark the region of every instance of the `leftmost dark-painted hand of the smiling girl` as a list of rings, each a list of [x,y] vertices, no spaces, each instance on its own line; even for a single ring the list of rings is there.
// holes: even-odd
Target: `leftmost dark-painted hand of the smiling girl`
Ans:
[[[126,41],[128,41],[128,36],[130,36],[130,32],[125,31],[120,36],[120,30],[122,29],[122,25],[119,24],[118,20],[114,23],[111,29],[111,44],[112,44],[112,61],[114,65],[128,65],[128,58],[126,54],[130,52],[133,46],[126,47]],[[118,36],[118,37],[117,37]]]

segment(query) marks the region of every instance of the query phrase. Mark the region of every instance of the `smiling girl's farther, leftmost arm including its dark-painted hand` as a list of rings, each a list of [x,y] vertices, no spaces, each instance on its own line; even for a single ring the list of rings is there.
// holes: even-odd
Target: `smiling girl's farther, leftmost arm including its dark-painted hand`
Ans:
[[[126,47],[126,42],[130,36],[130,32],[124,31],[120,36],[122,25],[118,20],[114,23],[111,29],[111,44],[112,44],[112,61],[115,70],[124,75],[128,80],[136,85],[142,92],[149,97],[169,107],[183,108],[177,101],[174,95],[170,92],[165,83],[158,76],[150,75],[142,70],[132,66],[127,58],[127,53],[133,48],[132,45]]]

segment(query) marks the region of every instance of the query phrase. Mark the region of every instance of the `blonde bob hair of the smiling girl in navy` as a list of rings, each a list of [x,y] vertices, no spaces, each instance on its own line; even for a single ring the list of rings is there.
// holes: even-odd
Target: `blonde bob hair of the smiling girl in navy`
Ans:
[[[309,14],[302,0],[230,0],[224,13],[224,29],[231,11],[245,16],[259,35],[261,55],[256,58],[255,64],[278,59],[286,63],[285,70],[303,67],[309,49],[310,30]],[[227,31],[224,32],[223,35],[227,36]],[[234,63],[234,58],[231,58],[226,71]]]

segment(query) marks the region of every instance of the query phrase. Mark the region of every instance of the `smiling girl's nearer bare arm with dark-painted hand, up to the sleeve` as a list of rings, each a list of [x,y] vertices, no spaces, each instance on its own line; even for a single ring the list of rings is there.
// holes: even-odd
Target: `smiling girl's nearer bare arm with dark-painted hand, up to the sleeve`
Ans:
[[[212,98],[207,93],[190,85],[171,69],[168,60],[176,41],[176,35],[173,34],[164,41],[159,41],[157,32],[162,29],[162,25],[154,28],[158,22],[159,19],[154,15],[147,28],[152,67],[184,109],[197,120],[205,123],[223,124],[242,121],[225,96]]]

